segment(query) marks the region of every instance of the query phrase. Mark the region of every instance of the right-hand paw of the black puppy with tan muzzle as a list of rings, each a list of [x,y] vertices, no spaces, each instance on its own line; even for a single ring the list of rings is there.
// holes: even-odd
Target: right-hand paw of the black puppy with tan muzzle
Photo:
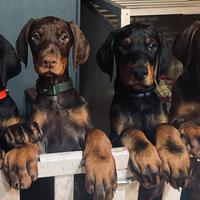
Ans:
[[[157,130],[156,147],[162,160],[162,175],[172,187],[179,189],[188,183],[190,158],[176,128],[163,125]]]

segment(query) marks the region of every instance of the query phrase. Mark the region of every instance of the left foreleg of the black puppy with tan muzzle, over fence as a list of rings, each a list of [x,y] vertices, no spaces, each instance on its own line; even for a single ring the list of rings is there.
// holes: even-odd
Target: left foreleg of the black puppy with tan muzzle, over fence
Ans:
[[[161,160],[156,148],[138,129],[123,132],[122,143],[130,153],[130,168],[145,188],[153,188],[160,183]]]

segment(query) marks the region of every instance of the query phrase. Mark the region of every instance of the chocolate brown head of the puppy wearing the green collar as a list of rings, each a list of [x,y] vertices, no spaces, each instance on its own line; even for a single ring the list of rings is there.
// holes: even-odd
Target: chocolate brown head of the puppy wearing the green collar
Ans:
[[[74,22],[51,16],[30,19],[22,28],[16,49],[25,65],[27,65],[28,44],[36,72],[47,77],[65,73],[72,46],[75,69],[87,60],[90,53],[88,41]]]

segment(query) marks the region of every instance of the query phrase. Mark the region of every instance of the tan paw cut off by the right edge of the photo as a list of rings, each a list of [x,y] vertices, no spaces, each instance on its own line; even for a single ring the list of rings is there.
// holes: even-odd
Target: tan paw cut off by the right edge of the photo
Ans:
[[[200,126],[190,122],[180,125],[179,132],[188,151],[195,157],[200,157]]]

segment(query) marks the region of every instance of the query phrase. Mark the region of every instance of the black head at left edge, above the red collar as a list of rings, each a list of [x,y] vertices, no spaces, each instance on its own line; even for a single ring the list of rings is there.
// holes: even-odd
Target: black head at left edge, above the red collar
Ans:
[[[13,46],[0,35],[0,87],[6,87],[7,81],[20,72],[20,61]]]

